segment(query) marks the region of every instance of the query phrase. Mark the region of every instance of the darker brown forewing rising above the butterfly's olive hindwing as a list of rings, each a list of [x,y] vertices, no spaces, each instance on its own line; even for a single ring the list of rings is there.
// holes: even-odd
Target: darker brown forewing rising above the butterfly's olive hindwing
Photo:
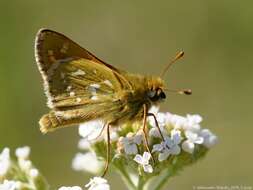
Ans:
[[[40,64],[40,68],[45,72],[55,60],[70,57],[92,60],[118,72],[118,69],[98,59],[65,35],[49,29],[40,29],[38,31],[35,40],[35,57],[37,63],[42,63]]]

